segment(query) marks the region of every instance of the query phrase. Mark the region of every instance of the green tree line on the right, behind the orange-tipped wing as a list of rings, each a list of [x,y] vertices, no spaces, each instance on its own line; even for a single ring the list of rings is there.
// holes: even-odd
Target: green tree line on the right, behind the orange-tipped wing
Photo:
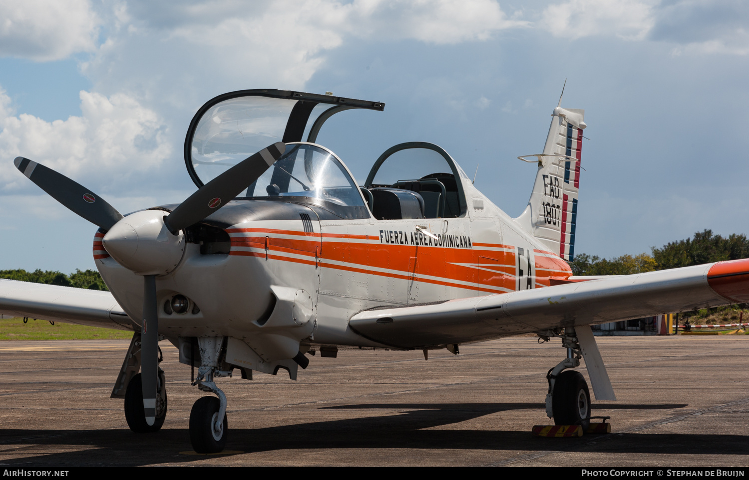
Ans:
[[[651,253],[622,255],[601,259],[579,253],[570,262],[573,275],[630,275],[645,271],[688,267],[703,263],[749,258],[749,239],[736,233],[723,237],[712,230],[694,234],[694,238],[672,241],[663,247],[652,247]]]

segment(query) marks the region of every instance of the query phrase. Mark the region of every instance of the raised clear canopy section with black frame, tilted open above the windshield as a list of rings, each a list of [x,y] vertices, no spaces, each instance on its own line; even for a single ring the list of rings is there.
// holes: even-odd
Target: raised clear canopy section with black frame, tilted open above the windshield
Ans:
[[[382,111],[385,104],[275,89],[216,96],[198,110],[187,129],[187,172],[200,188],[274,142],[303,141],[306,133],[306,141],[315,143],[328,118],[352,108]]]

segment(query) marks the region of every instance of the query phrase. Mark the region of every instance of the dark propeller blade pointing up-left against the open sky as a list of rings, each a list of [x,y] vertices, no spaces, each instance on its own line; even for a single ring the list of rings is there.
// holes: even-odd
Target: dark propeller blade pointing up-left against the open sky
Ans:
[[[91,190],[43,164],[23,157],[16,157],[13,164],[52,198],[104,230],[109,230],[122,218],[120,212]]]

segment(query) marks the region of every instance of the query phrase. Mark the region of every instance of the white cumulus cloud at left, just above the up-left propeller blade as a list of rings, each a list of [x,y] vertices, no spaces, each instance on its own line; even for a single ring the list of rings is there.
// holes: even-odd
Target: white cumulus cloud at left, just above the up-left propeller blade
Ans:
[[[0,90],[0,184],[10,193],[27,187],[10,159],[39,161],[85,184],[115,185],[131,173],[159,167],[172,153],[165,127],[154,111],[122,93],[107,98],[81,91],[81,117],[47,122],[13,115]],[[94,186],[94,185],[92,185]]]

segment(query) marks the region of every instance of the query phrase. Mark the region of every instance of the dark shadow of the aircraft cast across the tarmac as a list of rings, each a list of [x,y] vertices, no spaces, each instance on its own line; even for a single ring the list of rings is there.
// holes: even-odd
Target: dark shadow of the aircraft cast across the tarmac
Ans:
[[[685,404],[597,405],[599,408],[652,410],[685,407]],[[482,449],[527,452],[606,452],[688,455],[746,455],[747,438],[734,434],[612,434],[582,438],[548,439],[529,431],[485,429],[446,430],[451,425],[506,410],[542,409],[543,404],[352,404],[321,407],[324,410],[395,409],[388,415],[321,420],[270,428],[231,428],[226,449],[241,452],[294,452],[300,449]],[[408,411],[410,410],[410,411]],[[237,415],[240,413],[234,413]],[[258,414],[258,413],[253,413]],[[595,410],[594,413],[595,415]],[[169,422],[169,419],[167,419]],[[499,426],[499,425],[498,425]],[[29,455],[3,464],[55,466],[151,465],[185,463],[206,457],[181,455],[189,451],[187,429],[164,428],[157,434],[133,434],[129,430],[6,430],[0,451],[28,445],[59,446],[65,452]],[[76,449],[82,446],[83,449]],[[165,448],[166,446],[166,448]],[[10,447],[10,448],[9,448]],[[32,448],[33,449],[33,448]],[[73,450],[73,451],[70,451]],[[228,454],[231,455],[231,454]],[[213,457],[215,458],[215,457]]]

